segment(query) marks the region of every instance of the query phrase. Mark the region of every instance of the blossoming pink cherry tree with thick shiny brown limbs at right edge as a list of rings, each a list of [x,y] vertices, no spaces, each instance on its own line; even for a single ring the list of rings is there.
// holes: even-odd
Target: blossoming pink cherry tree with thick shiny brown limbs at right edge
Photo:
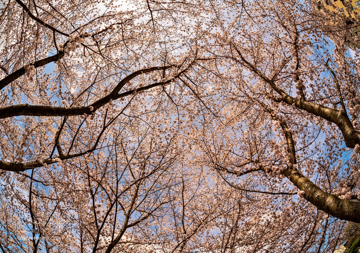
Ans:
[[[319,230],[310,220],[297,227],[307,231],[303,241],[291,240],[294,251],[311,250],[309,242],[318,238],[315,251],[332,252],[341,240],[343,224],[339,222],[332,228],[338,231],[330,235],[329,226],[338,222],[330,216],[359,222],[360,213],[359,51],[350,43],[359,40],[351,29],[359,24],[358,14],[351,18],[340,10],[318,8],[318,3],[291,1],[233,3],[231,8],[230,15],[223,16],[228,22],[209,35],[213,41],[209,51],[229,61],[219,73],[224,83],[219,89],[227,89],[228,100],[218,111],[221,120],[204,120],[208,127],[198,137],[203,158],[242,192],[273,195],[273,201],[297,192],[298,203],[314,205],[307,215],[323,220],[319,222],[323,231],[315,235]],[[288,205],[291,213],[287,206],[268,204],[271,211],[281,210],[280,220],[291,217],[289,224],[303,207],[294,211],[298,206]],[[270,218],[261,218],[266,226],[277,224],[275,238],[279,238],[281,222],[275,221],[279,213],[271,211]],[[222,227],[229,231],[227,241],[222,241],[225,249],[231,240],[246,245],[243,233],[233,232],[235,221]],[[288,247],[289,241],[274,243],[274,235],[266,239],[270,234],[255,236],[263,240],[251,250]],[[335,244],[325,245],[326,240]]]

